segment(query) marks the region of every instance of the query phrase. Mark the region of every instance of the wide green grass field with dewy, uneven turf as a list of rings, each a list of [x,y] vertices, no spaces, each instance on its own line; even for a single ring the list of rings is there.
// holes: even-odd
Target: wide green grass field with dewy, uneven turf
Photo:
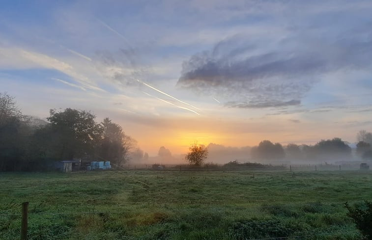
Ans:
[[[372,200],[368,171],[1,173],[0,239],[357,240],[343,203]]]

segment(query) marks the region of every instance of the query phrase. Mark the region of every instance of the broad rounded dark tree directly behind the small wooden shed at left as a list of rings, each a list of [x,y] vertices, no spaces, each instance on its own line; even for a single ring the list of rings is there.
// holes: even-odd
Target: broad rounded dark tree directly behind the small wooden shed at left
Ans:
[[[50,157],[58,160],[92,157],[102,133],[95,115],[71,108],[59,112],[51,109],[47,119],[50,122]]]

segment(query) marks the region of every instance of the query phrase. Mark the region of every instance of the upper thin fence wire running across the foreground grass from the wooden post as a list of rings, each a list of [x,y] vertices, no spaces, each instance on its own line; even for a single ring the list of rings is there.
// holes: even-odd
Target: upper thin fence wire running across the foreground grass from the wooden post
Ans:
[[[89,212],[54,212],[54,213],[29,213],[29,215],[68,215],[68,214],[110,214],[110,213],[156,213],[160,210],[168,210],[170,212],[192,212],[196,210],[244,210],[244,209],[262,209],[262,208],[276,208],[276,207],[299,207],[299,206],[322,206],[322,205],[339,205],[344,203],[357,203],[364,202],[365,200],[348,200],[343,202],[325,202],[325,203],[298,203],[298,204],[285,204],[285,205],[262,205],[262,206],[246,206],[246,207],[211,207],[211,208],[185,208],[185,209],[172,209],[172,208],[163,208],[157,210],[126,210],[126,211],[89,211]],[[20,215],[21,213],[0,213],[0,216],[10,216],[10,215]]]

